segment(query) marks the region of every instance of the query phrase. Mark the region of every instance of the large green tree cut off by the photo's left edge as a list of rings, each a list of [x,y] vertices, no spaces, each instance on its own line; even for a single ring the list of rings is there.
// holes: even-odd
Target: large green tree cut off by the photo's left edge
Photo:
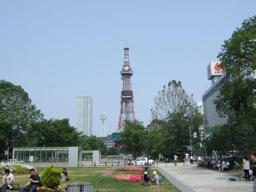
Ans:
[[[43,118],[20,86],[0,80],[0,150],[25,145],[26,131]]]

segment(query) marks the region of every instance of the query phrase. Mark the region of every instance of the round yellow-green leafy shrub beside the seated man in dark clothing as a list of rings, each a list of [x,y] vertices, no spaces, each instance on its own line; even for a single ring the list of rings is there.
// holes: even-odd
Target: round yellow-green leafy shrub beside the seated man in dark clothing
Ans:
[[[55,189],[61,183],[61,170],[52,165],[45,167],[41,174],[41,183],[47,188]]]

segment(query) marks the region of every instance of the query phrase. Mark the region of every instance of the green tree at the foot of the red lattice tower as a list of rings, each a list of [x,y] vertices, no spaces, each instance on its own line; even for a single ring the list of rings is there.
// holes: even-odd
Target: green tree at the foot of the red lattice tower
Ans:
[[[124,143],[124,149],[137,158],[145,151],[146,131],[142,122],[126,121],[126,128],[124,129],[121,140]]]

